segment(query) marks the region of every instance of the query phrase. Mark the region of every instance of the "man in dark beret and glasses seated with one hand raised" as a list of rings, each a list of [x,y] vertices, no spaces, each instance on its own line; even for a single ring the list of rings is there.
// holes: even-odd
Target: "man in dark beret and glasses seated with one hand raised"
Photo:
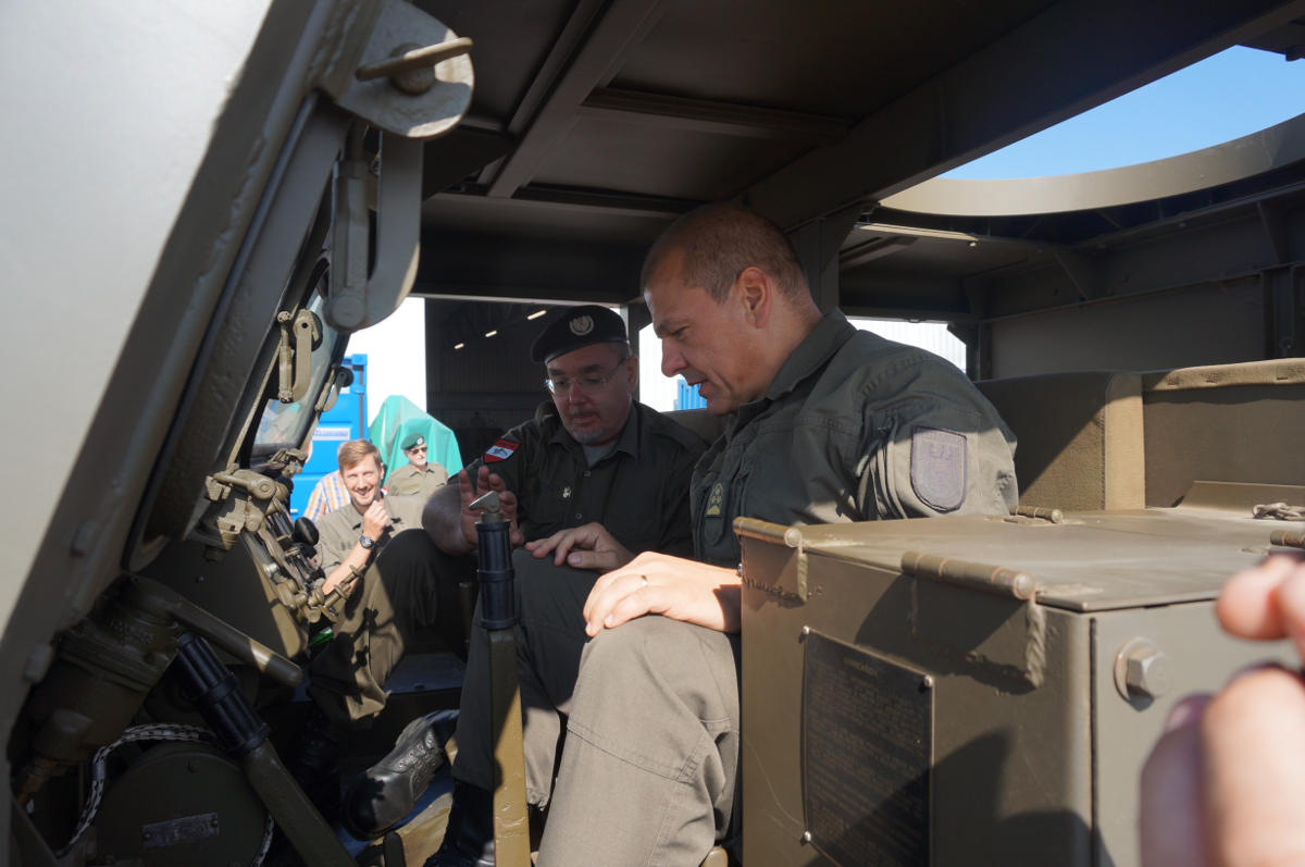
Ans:
[[[531,358],[544,366],[552,400],[539,407],[532,420],[504,434],[458,474],[455,483],[436,491],[423,516],[427,534],[395,538],[378,567],[390,576],[425,569],[437,576],[438,586],[474,581],[475,558],[468,555],[475,552],[478,516],[468,504],[496,490],[505,513],[515,517],[517,543],[526,543],[514,554],[517,585],[531,585],[547,597],[547,605],[569,607],[578,616],[600,571],[639,551],[671,548],[688,554],[693,548],[689,477],[706,444],[633,400],[638,359],[630,353],[621,317],[606,307],[573,307],[548,320],[531,347]],[[548,539],[577,529],[596,541],[594,550],[572,552],[565,556],[568,565],[562,565],[564,555]],[[529,628],[529,623],[527,615],[523,627]],[[572,657],[572,667],[578,665],[583,641],[583,632],[577,629],[574,641],[560,654]],[[461,851],[472,853],[471,863],[485,854],[487,846],[492,858],[493,846],[487,654],[488,638],[476,616],[458,722],[454,812],[446,834],[450,846],[457,843]],[[377,683],[384,683],[386,675],[373,672]],[[543,803],[561,718],[538,682],[522,684],[522,700],[530,719],[527,766],[532,781],[543,781],[532,783],[530,795],[532,802]],[[371,785],[355,787],[359,793],[382,793],[384,803],[380,798],[351,795],[346,817],[354,827],[376,836],[407,813],[429,780],[428,765],[440,759],[422,746],[436,725],[438,721],[432,719],[429,725],[410,726],[392,753],[402,757],[415,749],[429,761],[423,759],[403,769],[397,764],[373,768]]]

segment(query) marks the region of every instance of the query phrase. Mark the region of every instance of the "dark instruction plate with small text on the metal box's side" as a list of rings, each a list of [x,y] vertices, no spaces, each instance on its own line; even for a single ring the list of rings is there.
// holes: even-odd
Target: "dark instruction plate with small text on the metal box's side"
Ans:
[[[808,841],[838,864],[929,863],[933,680],[810,632],[803,657]]]

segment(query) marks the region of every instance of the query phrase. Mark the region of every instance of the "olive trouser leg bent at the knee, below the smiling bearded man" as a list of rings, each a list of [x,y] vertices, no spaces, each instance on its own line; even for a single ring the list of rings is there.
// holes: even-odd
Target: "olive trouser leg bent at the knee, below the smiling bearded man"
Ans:
[[[342,727],[368,725],[385,706],[385,680],[420,631],[433,629],[462,655],[458,585],[475,577],[474,558],[453,558],[424,530],[395,535],[345,602],[335,637],[309,663],[308,693]]]

